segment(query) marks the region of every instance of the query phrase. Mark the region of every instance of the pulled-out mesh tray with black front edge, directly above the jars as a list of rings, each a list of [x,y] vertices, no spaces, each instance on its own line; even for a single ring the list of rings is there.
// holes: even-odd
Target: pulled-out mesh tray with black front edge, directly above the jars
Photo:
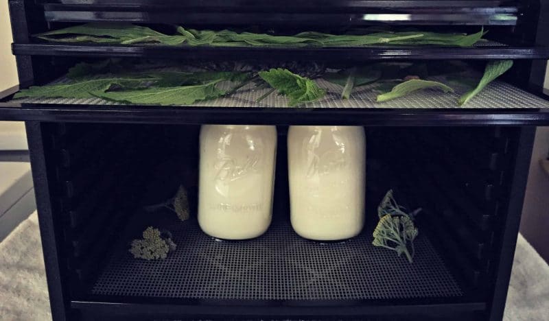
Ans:
[[[432,78],[432,80],[441,80]],[[52,84],[66,82],[61,78]],[[341,86],[317,80],[327,89],[320,101],[289,108],[288,100],[269,88],[248,85],[229,97],[187,106],[137,106],[100,98],[21,98],[0,103],[0,118],[37,121],[107,121],[130,123],[266,123],[360,124],[369,126],[547,125],[549,100],[506,82],[492,82],[463,107],[466,86],[452,83],[455,93],[424,90],[388,102],[375,102],[377,85],[361,86],[350,99],[340,99]],[[222,84],[221,88],[231,88]]]

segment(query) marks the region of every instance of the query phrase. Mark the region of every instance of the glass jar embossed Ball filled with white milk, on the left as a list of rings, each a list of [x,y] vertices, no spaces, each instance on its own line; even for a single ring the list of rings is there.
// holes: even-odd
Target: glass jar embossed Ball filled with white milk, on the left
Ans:
[[[202,231],[220,239],[251,239],[265,233],[272,217],[276,149],[275,126],[202,126]]]

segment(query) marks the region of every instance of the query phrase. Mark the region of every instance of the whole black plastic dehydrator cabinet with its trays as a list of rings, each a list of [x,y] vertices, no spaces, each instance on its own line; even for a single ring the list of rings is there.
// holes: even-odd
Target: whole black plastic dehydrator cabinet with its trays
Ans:
[[[458,94],[414,93],[386,104],[370,91],[340,102],[137,106],[102,99],[3,97],[0,119],[25,121],[55,321],[62,320],[501,320],[535,126],[549,126],[541,87],[549,58],[547,1],[530,0],[9,0],[20,88],[62,84],[78,62],[121,58],[177,64],[292,61],[490,60],[513,67],[468,106]],[[168,47],[53,43],[33,35],[82,23],[165,30],[233,27],[293,34],[366,27],[488,33],[474,47]],[[137,62],[136,62],[137,63]],[[311,67],[312,68],[312,67]],[[238,95],[236,93],[235,95]],[[248,241],[215,241],[196,221],[200,125],[269,124],[278,132],[272,224]],[[292,125],[366,132],[366,226],[336,243],[290,226],[286,135]],[[187,187],[191,218],[143,211]],[[421,207],[414,263],[375,248],[377,204],[393,189]],[[143,226],[172,232],[165,260],[136,260]]]

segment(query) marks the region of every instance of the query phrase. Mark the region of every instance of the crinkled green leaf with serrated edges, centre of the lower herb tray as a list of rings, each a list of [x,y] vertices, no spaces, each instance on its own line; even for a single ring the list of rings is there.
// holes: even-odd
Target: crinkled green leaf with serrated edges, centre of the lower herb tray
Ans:
[[[288,69],[270,69],[259,71],[259,77],[277,89],[282,95],[290,98],[288,106],[297,106],[324,97],[326,91],[318,87],[316,82],[292,73]]]

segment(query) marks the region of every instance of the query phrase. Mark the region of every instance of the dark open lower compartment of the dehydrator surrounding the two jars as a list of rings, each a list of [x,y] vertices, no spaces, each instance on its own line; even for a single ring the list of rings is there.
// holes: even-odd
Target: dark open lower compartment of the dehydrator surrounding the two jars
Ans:
[[[289,223],[284,126],[272,225],[250,241],[216,241],[196,223],[199,126],[49,127],[71,289],[82,299],[471,302],[489,286],[493,219],[515,128],[366,128],[366,227],[323,244],[301,239]],[[189,221],[142,210],[180,184],[189,190]],[[388,189],[409,209],[423,208],[412,264],[371,246]],[[128,243],[147,226],[170,230],[176,252],[133,259]]]

